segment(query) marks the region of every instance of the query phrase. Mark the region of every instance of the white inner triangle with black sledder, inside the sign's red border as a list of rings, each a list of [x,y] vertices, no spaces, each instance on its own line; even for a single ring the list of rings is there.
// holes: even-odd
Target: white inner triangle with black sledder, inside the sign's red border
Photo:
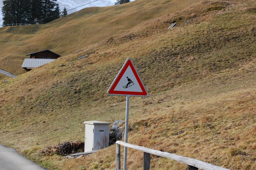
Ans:
[[[139,83],[130,66],[128,66],[127,70],[124,72],[114,91],[142,92],[142,89],[139,86]]]

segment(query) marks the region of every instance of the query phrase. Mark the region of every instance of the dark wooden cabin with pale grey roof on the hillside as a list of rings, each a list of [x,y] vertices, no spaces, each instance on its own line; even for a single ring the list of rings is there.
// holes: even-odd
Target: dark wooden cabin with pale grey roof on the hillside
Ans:
[[[25,58],[21,66],[26,71],[30,71],[31,69],[34,69],[36,67],[53,62],[58,57],[61,57],[59,54],[56,54],[50,50],[43,50],[43,51],[27,54],[27,56],[28,55],[30,55],[30,58]]]

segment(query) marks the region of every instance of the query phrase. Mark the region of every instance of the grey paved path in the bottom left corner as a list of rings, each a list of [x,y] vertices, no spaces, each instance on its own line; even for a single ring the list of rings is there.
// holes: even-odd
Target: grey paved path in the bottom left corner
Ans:
[[[46,170],[40,165],[21,156],[15,149],[0,144],[1,170]]]

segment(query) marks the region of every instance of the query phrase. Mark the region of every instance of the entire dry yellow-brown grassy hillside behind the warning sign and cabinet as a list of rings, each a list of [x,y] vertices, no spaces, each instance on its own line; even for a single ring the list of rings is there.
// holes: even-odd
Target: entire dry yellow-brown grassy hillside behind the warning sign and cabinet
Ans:
[[[255,169],[256,3],[185,2],[137,0],[89,8],[0,35],[8,41],[1,42],[6,54],[37,51],[35,42],[63,53],[55,62],[1,83],[0,143],[50,169],[114,169],[115,146],[75,160],[36,153],[59,141],[83,140],[83,121],[124,119],[125,97],[107,96],[106,91],[131,57],[150,96],[131,98],[129,143],[232,170]],[[90,9],[83,14],[88,17],[82,16]],[[105,22],[106,13],[120,14],[111,18],[115,24]],[[141,19],[126,23],[130,15]],[[94,29],[88,26],[91,32],[85,34],[89,29],[82,21],[96,18]],[[177,25],[168,30],[173,22]],[[100,27],[106,29],[96,32]],[[35,28],[32,35],[23,33],[20,47],[20,31]],[[85,54],[90,55],[77,60]],[[142,169],[142,155],[128,149],[128,169]],[[152,169],[185,165],[153,156]]]

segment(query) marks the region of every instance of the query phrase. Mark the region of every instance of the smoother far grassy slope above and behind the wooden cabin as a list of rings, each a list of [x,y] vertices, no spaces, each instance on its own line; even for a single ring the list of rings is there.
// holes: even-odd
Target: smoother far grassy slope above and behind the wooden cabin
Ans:
[[[68,17],[45,25],[26,25],[0,34],[0,69],[15,74],[24,73],[21,68],[26,54],[50,49],[60,55],[77,52],[103,39],[111,39],[135,28],[145,21],[182,10],[200,0],[139,0],[111,7],[85,8]],[[0,32],[12,27],[0,28]]]

